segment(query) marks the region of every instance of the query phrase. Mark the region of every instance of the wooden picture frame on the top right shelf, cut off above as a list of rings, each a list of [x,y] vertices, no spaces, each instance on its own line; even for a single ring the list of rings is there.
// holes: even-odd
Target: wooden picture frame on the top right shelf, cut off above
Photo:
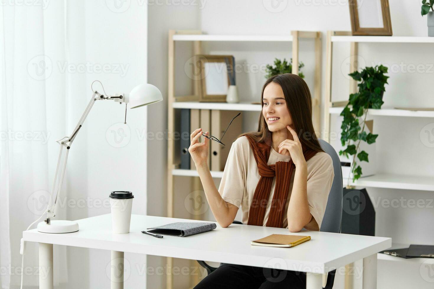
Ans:
[[[392,36],[388,0],[349,0],[352,35]]]

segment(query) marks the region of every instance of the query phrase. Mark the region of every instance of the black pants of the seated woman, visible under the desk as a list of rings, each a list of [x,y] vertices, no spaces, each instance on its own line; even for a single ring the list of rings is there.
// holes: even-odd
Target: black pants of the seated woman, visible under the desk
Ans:
[[[306,273],[221,263],[194,289],[306,289]]]

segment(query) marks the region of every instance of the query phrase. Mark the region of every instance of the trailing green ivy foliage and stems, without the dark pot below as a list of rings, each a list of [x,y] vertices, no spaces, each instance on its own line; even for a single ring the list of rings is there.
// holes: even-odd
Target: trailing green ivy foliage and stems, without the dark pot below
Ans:
[[[366,133],[365,122],[368,114],[368,108],[380,109],[383,102],[383,93],[388,76],[387,67],[377,65],[375,67],[366,67],[361,72],[354,71],[349,75],[360,83],[358,92],[350,94],[349,102],[341,112],[342,120],[342,146],[346,145],[344,150],[339,151],[339,155],[349,158],[353,156],[352,166],[350,169],[353,173],[353,181],[360,178],[362,168],[356,163],[356,156],[360,162],[369,162],[368,153],[360,151],[359,146],[362,141],[371,144],[375,143],[378,134]],[[363,119],[363,120],[362,120]],[[348,177],[350,179],[350,176]]]

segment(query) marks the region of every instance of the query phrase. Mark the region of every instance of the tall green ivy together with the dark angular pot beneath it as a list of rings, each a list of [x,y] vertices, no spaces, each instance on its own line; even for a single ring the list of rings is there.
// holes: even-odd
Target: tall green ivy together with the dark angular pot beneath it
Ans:
[[[366,133],[365,126],[368,109],[380,109],[384,103],[383,94],[389,78],[385,73],[387,67],[377,65],[349,74],[360,83],[357,85],[358,92],[350,94],[349,103],[340,114],[343,117],[341,142],[346,148],[339,151],[339,155],[347,158],[352,156],[348,184],[351,174],[353,181],[362,176],[362,167],[357,165],[356,156],[360,162],[369,161],[368,153],[361,149],[360,144],[365,142],[370,145],[375,143],[378,137],[378,134]],[[358,190],[347,185],[343,189],[341,231],[344,234],[375,235],[375,208],[366,188]]]

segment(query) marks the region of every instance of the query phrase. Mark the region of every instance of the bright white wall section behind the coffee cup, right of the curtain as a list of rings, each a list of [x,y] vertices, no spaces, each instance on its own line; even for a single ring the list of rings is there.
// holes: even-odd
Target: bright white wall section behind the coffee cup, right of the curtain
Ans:
[[[100,79],[108,94],[129,92],[137,84],[148,82],[147,6],[136,1],[129,4],[128,1],[122,2],[122,9],[116,9],[115,6],[110,6],[110,2],[90,1],[86,2],[85,7],[86,28],[89,31],[85,36],[87,57],[98,63],[111,63],[114,66],[119,64],[126,68],[125,75],[122,72],[101,76],[86,75],[87,83]],[[135,196],[132,213],[147,214],[148,148],[140,133],[147,127],[148,107],[128,109],[127,127],[123,124],[124,105],[102,102],[95,104],[94,109],[95,111],[89,115],[87,131],[89,179],[86,194],[104,199],[114,190],[131,191]],[[125,136],[122,135],[120,128],[124,130]],[[121,143],[116,143],[115,139]],[[89,208],[87,217],[109,212],[109,208]],[[110,280],[106,269],[110,262],[110,252],[89,250],[88,254],[89,270],[86,272],[89,272],[91,277],[88,285],[83,288],[109,287]],[[144,286],[146,271],[141,269],[145,260],[145,255],[125,253],[125,268],[128,270],[127,263],[130,265],[125,288]],[[126,276],[127,273],[124,274]]]

